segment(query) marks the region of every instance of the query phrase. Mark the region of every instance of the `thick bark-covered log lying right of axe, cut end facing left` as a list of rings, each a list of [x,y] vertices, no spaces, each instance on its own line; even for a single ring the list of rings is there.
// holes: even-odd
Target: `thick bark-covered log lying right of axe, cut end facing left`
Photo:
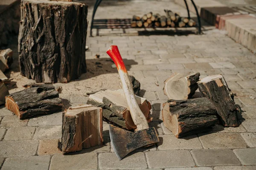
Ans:
[[[217,122],[215,106],[202,97],[187,100],[168,100],[163,103],[163,123],[177,137],[209,130]]]

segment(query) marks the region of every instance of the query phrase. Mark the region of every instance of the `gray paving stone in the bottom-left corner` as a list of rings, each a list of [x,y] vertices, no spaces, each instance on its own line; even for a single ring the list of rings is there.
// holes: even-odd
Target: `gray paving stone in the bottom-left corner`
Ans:
[[[48,170],[51,156],[7,158],[2,170]]]

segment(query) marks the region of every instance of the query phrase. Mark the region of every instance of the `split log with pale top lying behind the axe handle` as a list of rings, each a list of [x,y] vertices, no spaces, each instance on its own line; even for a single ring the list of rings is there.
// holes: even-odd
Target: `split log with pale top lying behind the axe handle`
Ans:
[[[136,100],[148,122],[151,122],[149,116],[151,109],[150,103],[139,96],[136,96]],[[131,118],[131,113],[122,90],[99,91],[89,96],[87,104],[101,107],[103,109],[103,120],[108,123],[127,130],[137,128]]]

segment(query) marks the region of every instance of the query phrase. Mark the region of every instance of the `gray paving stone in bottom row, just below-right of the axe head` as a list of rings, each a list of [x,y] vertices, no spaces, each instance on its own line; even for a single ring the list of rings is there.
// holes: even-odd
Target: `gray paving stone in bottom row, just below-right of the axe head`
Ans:
[[[159,150],[149,151],[145,154],[149,168],[195,166],[192,156],[188,150]]]

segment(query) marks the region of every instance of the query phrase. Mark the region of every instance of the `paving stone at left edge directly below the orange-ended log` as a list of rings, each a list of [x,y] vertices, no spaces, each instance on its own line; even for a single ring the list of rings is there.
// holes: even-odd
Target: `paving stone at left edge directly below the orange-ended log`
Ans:
[[[12,116],[4,116],[0,126],[1,127],[22,127],[26,126],[28,123],[28,120],[20,120],[16,115]]]

